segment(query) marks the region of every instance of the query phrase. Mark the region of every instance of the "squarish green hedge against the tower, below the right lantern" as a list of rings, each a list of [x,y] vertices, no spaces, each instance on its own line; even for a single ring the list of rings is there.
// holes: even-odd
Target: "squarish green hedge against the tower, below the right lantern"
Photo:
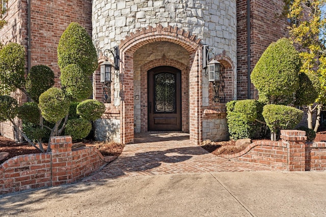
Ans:
[[[262,105],[257,100],[230,101],[226,104],[230,139],[253,138],[260,124]]]

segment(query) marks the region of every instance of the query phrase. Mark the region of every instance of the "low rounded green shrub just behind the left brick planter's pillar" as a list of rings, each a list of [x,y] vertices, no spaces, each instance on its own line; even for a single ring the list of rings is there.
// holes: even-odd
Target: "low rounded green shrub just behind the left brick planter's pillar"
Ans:
[[[91,132],[92,124],[83,118],[76,118],[67,121],[65,135],[69,135],[73,140],[83,139]]]

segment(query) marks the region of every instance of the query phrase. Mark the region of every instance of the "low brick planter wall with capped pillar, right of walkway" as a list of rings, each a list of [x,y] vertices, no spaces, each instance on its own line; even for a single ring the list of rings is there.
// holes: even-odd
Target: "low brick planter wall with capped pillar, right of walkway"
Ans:
[[[326,171],[326,143],[306,142],[306,132],[282,130],[281,141],[261,140],[222,157],[287,171]]]

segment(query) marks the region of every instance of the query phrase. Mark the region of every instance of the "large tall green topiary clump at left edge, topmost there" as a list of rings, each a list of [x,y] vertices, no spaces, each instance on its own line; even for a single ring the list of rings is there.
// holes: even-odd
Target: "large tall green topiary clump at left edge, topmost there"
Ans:
[[[22,88],[25,82],[25,48],[9,43],[0,50],[0,94]]]

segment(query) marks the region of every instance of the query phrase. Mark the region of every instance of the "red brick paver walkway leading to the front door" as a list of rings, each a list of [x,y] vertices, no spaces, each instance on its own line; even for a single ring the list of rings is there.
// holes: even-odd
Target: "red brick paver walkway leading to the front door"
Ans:
[[[84,181],[122,176],[201,172],[266,171],[269,167],[228,161],[192,144],[184,133],[135,134],[120,157]]]

